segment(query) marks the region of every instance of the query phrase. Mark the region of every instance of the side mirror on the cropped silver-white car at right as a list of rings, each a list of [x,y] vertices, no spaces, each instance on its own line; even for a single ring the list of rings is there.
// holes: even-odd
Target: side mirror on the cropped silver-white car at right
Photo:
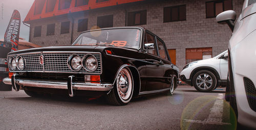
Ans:
[[[224,11],[216,16],[216,20],[220,24],[228,24],[228,27],[233,32],[234,20],[236,20],[237,13],[233,10]]]

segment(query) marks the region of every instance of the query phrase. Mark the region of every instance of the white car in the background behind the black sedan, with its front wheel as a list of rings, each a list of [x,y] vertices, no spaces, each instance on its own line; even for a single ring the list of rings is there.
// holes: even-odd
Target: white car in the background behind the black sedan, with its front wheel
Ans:
[[[186,64],[180,73],[180,79],[198,91],[210,92],[227,83],[227,50],[210,59]]]

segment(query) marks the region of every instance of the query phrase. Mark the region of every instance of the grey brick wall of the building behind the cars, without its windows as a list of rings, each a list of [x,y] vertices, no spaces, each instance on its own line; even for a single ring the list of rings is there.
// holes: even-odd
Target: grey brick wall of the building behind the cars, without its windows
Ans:
[[[104,15],[114,16],[114,27],[125,25],[125,13],[146,10],[147,24],[140,25],[158,35],[164,40],[167,49],[176,49],[176,65],[181,69],[185,65],[185,49],[198,47],[212,47],[212,57],[220,54],[228,47],[231,31],[227,25],[218,24],[215,18],[206,18],[204,0],[175,0],[175,1],[150,1],[114,6],[75,15],[42,19],[31,23],[30,42],[41,45],[70,45],[72,19],[74,19],[73,40],[81,33],[77,32],[78,19],[88,18],[88,30],[97,25],[97,17]],[[186,5],[186,20],[163,22],[163,8],[169,6]],[[242,10],[243,1],[233,0],[233,10],[237,16]],[[70,33],[60,34],[60,24],[71,21]],[[47,24],[55,23],[55,35],[46,36]],[[34,27],[42,25],[41,37],[33,37]]]

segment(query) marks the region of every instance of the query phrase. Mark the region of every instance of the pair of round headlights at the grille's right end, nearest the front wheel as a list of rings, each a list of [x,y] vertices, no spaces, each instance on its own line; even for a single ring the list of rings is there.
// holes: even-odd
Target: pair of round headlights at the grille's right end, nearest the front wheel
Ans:
[[[69,56],[67,64],[73,71],[79,71],[83,67],[87,71],[92,72],[98,67],[96,57],[91,54],[85,55],[82,59],[78,55],[72,54]]]

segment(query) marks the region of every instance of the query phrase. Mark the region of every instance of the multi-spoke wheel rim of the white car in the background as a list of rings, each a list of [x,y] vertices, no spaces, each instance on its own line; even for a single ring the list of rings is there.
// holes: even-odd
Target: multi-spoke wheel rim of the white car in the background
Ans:
[[[212,84],[212,77],[207,73],[202,73],[197,76],[196,84],[201,89],[209,89]]]

